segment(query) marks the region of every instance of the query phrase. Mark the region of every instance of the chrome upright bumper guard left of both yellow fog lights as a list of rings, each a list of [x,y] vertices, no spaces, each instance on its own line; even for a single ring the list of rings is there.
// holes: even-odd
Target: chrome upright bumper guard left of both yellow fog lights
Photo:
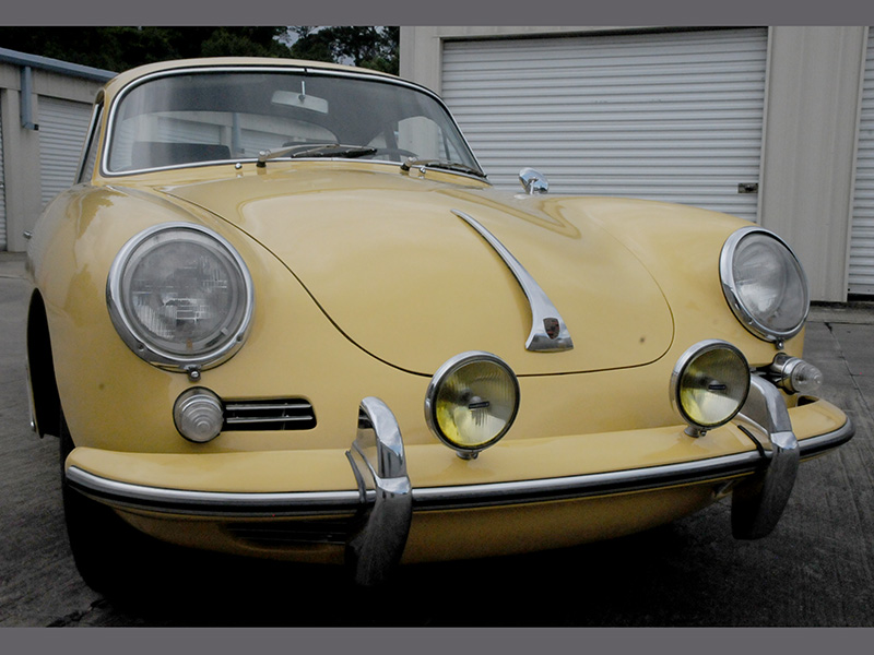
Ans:
[[[346,451],[365,509],[346,541],[346,563],[363,586],[383,583],[406,546],[413,519],[413,491],[398,420],[382,401],[366,397],[358,431]]]

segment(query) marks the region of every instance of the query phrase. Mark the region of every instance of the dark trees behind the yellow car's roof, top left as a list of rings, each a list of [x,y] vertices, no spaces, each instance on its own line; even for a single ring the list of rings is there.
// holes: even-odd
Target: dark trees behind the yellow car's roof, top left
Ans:
[[[286,46],[282,37],[297,40]],[[399,27],[0,27],[0,46],[120,72],[191,57],[292,57],[397,73]]]

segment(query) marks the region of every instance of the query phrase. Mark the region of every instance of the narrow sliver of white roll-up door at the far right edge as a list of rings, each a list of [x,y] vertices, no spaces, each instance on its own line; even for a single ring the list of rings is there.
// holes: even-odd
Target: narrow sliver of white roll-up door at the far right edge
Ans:
[[[850,294],[874,295],[874,31],[869,32],[850,237]]]

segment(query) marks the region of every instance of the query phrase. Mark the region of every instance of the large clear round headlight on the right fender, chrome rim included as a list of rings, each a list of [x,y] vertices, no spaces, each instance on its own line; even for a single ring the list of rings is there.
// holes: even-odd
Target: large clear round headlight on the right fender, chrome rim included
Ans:
[[[759,227],[737,230],[722,248],[722,290],[744,326],[765,341],[798,334],[810,310],[807,281],[795,254]]]

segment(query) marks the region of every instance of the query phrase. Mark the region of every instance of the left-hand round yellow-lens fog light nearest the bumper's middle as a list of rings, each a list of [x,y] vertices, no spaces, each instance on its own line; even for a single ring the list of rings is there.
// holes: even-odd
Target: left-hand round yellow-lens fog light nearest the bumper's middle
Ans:
[[[425,419],[437,438],[465,458],[494,445],[519,409],[519,382],[507,364],[488,353],[463,353],[434,374]]]

